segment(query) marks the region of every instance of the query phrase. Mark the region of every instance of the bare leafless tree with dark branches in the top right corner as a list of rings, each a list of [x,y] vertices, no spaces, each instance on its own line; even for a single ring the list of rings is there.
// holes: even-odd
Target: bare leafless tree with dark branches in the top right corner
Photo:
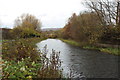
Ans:
[[[97,13],[103,26],[120,24],[120,1],[86,0],[85,5]]]

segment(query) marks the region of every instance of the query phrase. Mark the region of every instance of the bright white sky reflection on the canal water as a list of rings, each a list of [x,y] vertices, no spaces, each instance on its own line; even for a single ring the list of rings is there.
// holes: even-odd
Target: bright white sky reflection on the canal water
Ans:
[[[53,44],[54,43],[54,44]],[[70,62],[70,56],[68,55],[69,50],[70,50],[70,46],[67,45],[66,43],[63,43],[60,40],[54,40],[54,39],[48,39],[45,41],[42,41],[40,43],[37,44],[38,48],[42,49],[44,48],[44,46],[47,45],[47,49],[48,52],[51,53],[52,49],[59,52],[60,51],[60,60],[62,61],[62,68],[64,68],[63,73],[65,76],[67,76],[67,74],[70,74],[70,67],[71,67],[71,62]],[[66,54],[64,54],[66,53]],[[48,54],[48,57],[50,56],[50,54]]]

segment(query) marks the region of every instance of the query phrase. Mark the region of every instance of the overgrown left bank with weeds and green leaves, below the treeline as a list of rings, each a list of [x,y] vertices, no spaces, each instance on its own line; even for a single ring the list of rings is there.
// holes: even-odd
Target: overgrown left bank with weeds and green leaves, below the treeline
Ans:
[[[26,38],[17,40],[3,40],[2,42],[2,78],[59,78],[59,55],[53,51],[53,57],[48,60],[47,49],[38,52],[36,43],[43,39]],[[54,55],[58,56],[54,58]],[[56,61],[57,60],[57,61]],[[57,62],[56,64],[54,62]],[[47,63],[47,64],[46,64]]]

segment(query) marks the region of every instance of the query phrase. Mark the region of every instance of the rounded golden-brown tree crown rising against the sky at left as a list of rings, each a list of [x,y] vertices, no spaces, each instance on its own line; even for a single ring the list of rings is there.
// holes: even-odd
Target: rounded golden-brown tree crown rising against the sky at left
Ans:
[[[23,14],[15,20],[15,27],[31,28],[40,30],[41,22],[33,15]]]

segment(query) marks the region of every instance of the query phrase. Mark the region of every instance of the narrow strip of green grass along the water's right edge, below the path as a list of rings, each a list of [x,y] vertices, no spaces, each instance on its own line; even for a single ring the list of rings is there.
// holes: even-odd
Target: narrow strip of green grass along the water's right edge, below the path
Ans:
[[[109,54],[113,54],[113,55],[120,55],[120,49],[118,48],[101,48],[101,47],[96,47],[96,46],[91,46],[91,45],[87,45],[87,46],[83,46],[83,43],[79,43],[73,40],[66,40],[66,39],[60,39],[63,42],[66,42],[68,44],[71,44],[73,46],[78,46],[78,47],[82,47],[84,49],[93,49],[93,50],[99,50],[101,52],[105,52],[105,53],[109,53]]]

